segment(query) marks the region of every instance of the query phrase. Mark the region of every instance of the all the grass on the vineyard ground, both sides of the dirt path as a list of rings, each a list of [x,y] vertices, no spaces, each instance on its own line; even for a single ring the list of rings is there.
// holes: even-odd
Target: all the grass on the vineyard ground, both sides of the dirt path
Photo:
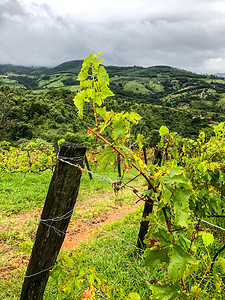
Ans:
[[[110,177],[112,180],[118,180],[116,168],[110,167],[106,169],[105,173],[101,173],[95,166],[92,166],[92,170],[104,178]],[[2,212],[0,217],[0,299],[19,299],[38,218],[52,173],[50,171],[39,174],[31,173],[25,177],[23,174],[1,173],[0,175],[0,209]],[[126,180],[128,181],[134,176],[135,171],[128,172]],[[143,186],[142,180],[136,180],[134,186]],[[132,192],[124,190],[115,196],[110,191],[112,191],[110,181],[102,181],[97,177],[90,181],[88,174],[83,173],[75,213],[84,218],[91,218],[103,212],[111,213],[118,207],[129,208],[136,201]],[[135,245],[142,210],[143,205],[122,220],[104,225],[104,229]],[[223,238],[217,244],[215,243],[211,249],[212,253],[218,251],[222,244]],[[149,299],[151,294],[149,283],[139,276],[148,280],[165,279],[161,266],[155,270],[146,267],[143,257],[134,247],[106,233],[98,231],[88,243],[88,247],[81,245],[75,250],[61,251],[61,255],[66,253],[69,256],[79,256],[82,253],[84,257],[81,262],[82,268],[94,267],[98,273],[103,274],[109,284],[123,289],[126,295],[138,292],[141,299]],[[199,255],[201,257],[202,253]],[[222,253],[221,256],[225,257],[225,254]],[[188,287],[193,284],[193,280],[187,281]],[[213,297],[222,299],[222,296],[216,294],[214,286],[209,283],[204,282],[202,288],[208,292],[203,297],[204,299],[213,299]],[[50,278],[44,299],[69,300],[76,298],[68,297],[62,291],[61,286],[57,286]]]

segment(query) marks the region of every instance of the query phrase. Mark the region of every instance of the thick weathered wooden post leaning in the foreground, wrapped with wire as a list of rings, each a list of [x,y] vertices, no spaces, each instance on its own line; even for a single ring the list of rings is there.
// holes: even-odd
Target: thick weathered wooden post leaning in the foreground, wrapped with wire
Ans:
[[[82,172],[73,165],[83,167],[85,152],[84,146],[72,143],[61,145],[27,267],[21,300],[43,299],[49,270],[56,262],[78,195]]]

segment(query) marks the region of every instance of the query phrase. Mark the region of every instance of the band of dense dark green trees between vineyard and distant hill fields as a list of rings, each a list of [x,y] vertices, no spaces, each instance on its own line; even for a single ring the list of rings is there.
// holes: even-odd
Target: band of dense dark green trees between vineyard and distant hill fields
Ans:
[[[83,120],[77,117],[74,96],[75,93],[64,89],[34,93],[30,90],[1,86],[0,140],[19,144],[37,138],[47,142],[63,138],[91,147],[94,142],[87,137],[86,126],[90,125],[90,120],[94,118],[88,109],[84,112]],[[191,138],[196,138],[202,129],[207,134],[211,132],[207,119],[192,119],[189,112],[141,101],[138,103],[131,97],[111,97],[106,101],[106,106],[114,111],[138,112],[142,120],[132,128],[132,134],[143,134],[149,145],[157,141],[161,125]]]

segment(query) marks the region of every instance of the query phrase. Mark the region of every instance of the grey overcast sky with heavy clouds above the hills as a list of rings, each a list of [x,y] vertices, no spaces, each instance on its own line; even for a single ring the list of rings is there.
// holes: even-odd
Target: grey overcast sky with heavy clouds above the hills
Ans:
[[[225,0],[0,0],[0,64],[225,72]]]

